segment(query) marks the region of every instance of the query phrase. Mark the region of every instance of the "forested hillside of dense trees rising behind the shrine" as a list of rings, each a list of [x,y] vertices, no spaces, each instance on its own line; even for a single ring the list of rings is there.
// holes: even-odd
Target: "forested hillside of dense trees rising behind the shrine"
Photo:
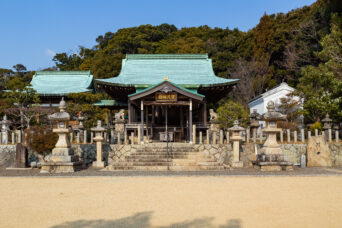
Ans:
[[[342,4],[318,0],[288,13],[263,15],[248,32],[208,26],[141,25],[107,32],[92,48],[58,53],[58,70],[91,70],[96,78],[117,76],[125,54],[208,53],[216,75],[239,78],[230,95],[244,105],[282,81],[305,99],[308,122],[329,112],[342,117]],[[16,75],[3,69],[2,75]],[[32,75],[32,74],[31,74]],[[2,87],[6,84],[2,77]]]

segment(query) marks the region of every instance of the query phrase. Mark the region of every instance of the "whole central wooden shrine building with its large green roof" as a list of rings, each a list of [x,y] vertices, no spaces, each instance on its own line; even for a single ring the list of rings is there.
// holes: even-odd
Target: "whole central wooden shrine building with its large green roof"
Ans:
[[[127,103],[126,134],[141,140],[192,142],[192,126],[208,128],[207,103],[225,97],[238,79],[217,77],[207,54],[127,54],[117,77],[97,79],[116,102]]]

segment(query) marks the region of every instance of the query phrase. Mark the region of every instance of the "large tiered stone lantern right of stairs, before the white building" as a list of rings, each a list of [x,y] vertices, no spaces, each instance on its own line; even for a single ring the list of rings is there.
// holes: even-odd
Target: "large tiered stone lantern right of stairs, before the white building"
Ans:
[[[263,115],[266,128],[262,130],[267,138],[261,149],[261,154],[257,155],[255,164],[262,171],[281,171],[282,168],[291,170],[293,169],[292,164],[285,161],[282,150],[277,143],[277,133],[282,131],[277,124],[279,120],[286,120],[286,115],[275,111],[273,101],[267,103],[267,110]]]

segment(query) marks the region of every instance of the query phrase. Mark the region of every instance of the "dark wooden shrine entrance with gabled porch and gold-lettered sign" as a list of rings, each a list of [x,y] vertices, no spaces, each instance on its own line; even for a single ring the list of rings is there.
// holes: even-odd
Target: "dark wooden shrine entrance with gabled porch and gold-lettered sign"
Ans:
[[[140,140],[192,142],[192,126],[207,128],[205,97],[195,91],[164,81],[128,96],[126,134],[138,133]],[[136,134],[137,135],[137,134]]]

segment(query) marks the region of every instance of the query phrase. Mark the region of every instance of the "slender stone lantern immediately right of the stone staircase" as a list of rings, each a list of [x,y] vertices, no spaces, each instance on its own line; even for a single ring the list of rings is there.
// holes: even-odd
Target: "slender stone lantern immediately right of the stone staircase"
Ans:
[[[233,141],[233,164],[234,168],[242,168],[243,162],[240,161],[240,141],[242,141],[242,132],[245,130],[239,126],[239,121],[234,121],[234,126],[228,129],[231,133],[231,140]]]

